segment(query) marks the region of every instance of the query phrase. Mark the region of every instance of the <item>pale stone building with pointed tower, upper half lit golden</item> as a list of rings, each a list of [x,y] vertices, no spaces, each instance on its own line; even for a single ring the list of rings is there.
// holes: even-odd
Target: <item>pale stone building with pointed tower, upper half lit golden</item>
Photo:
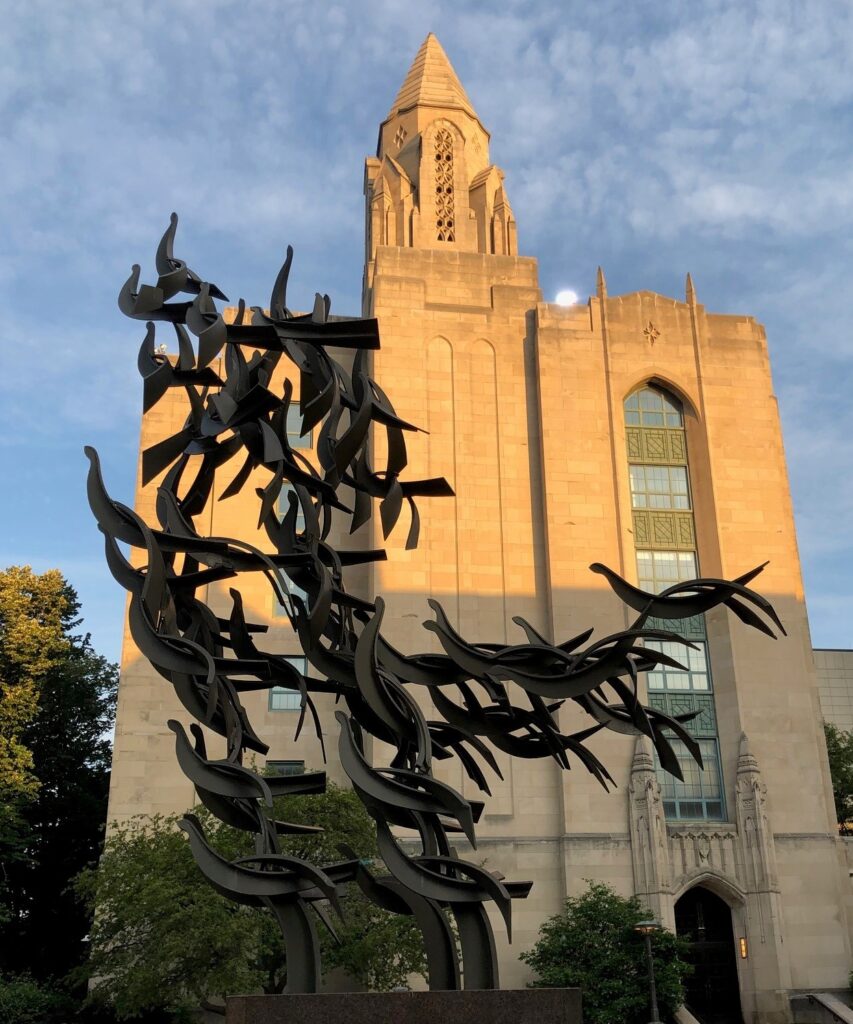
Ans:
[[[599,271],[588,302],[544,302],[488,146],[430,35],[366,164],[364,313],[380,324],[376,378],[429,431],[411,442],[410,472],[447,476],[456,498],[424,501],[418,550],[393,536],[388,560],[354,585],[384,596],[383,629],[415,651],[437,649],[421,628],[431,595],[473,639],[520,640],[516,614],[558,639],[591,625],[603,635],[628,623],[591,561],[653,590],[699,572],[732,579],[769,559],[759,585],[786,637],[774,642],[717,610],[689,623],[688,671],[644,683],[649,703],[700,712],[692,728],[705,770],[685,757],[677,782],[645,741],[604,732],[592,743],[617,782],[607,796],[580,766],[499,755],[505,780],[486,805],[480,856],[536,883],[514,907],[513,946],[501,948],[504,985],[524,984],[518,952],[596,879],[638,894],[698,944],[697,1016],[790,1020],[792,991],[846,986],[850,882],[764,331],[751,316],[708,312],[689,276],[683,299],[609,295]],[[167,396],[144,417],[142,447],[184,415],[181,396]],[[310,455],[310,438],[301,443]],[[152,520],[155,493],[156,481],[136,496]],[[210,532],[256,537],[254,485],[244,494],[212,504]],[[268,644],[299,657],[288,620],[256,586],[244,591],[250,614],[269,621]],[[226,587],[208,597],[223,614]],[[281,770],[321,765],[312,736],[293,739],[291,692],[246,702]],[[560,714],[564,730],[578,725],[570,709]],[[126,636],[111,819],[193,803],[169,717],[185,718]],[[475,796],[458,765],[443,770]]]

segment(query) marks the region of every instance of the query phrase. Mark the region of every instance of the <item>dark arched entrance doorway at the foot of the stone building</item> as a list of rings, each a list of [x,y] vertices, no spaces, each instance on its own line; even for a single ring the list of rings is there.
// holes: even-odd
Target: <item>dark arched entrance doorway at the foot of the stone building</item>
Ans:
[[[743,1024],[728,905],[696,886],[676,903],[675,927],[690,943],[694,969],[686,983],[687,1009],[701,1024]]]

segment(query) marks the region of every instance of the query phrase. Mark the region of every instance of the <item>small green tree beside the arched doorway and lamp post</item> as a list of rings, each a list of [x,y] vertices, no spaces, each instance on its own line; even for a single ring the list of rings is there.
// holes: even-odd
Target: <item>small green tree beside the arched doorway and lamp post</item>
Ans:
[[[545,922],[539,941],[521,959],[536,972],[535,986],[582,989],[587,1024],[641,1024],[648,1020],[648,974],[645,944],[634,928],[649,916],[636,896],[619,896],[590,882]],[[663,1014],[672,1014],[684,997],[687,947],[665,929],[652,943],[657,1000]]]

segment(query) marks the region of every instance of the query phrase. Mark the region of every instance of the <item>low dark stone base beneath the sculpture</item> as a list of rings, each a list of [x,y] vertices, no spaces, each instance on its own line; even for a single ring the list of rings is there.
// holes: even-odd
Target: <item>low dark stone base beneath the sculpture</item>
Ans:
[[[577,988],[231,995],[225,1024],[583,1024]]]

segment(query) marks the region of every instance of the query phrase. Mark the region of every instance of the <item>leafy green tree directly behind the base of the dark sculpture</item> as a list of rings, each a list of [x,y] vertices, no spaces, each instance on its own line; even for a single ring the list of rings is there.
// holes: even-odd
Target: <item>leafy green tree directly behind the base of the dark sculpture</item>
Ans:
[[[208,841],[234,857],[251,839],[199,808]],[[317,835],[287,837],[283,851],[329,863],[341,860],[338,844],[357,856],[377,856],[373,822],[349,790],[275,802],[279,819],[322,825]],[[218,895],[196,867],[175,818],[136,818],[114,826],[97,868],[76,883],[97,907],[87,973],[93,997],[119,1018],[150,1011],[180,1016],[231,992],[279,992],[286,980],[281,936],[271,915]],[[365,987],[388,989],[423,973],[420,932],[411,919],[386,913],[347,887],[346,921],[336,923],[337,945],[321,929],[326,971],[344,968]]]

